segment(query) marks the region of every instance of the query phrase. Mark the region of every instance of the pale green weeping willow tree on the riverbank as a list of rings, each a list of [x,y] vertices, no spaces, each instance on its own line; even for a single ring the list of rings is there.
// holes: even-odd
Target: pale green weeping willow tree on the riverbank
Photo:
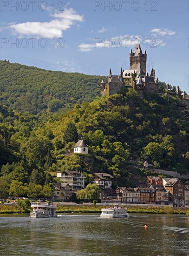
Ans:
[[[98,200],[100,195],[100,188],[97,184],[89,183],[85,189],[81,189],[77,192],[77,198],[79,200],[86,200],[92,202]]]

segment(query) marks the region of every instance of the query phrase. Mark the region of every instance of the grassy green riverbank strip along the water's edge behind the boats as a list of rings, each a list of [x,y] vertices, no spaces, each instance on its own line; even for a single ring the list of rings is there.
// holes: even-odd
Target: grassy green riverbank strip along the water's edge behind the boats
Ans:
[[[58,205],[57,213],[101,213],[104,205]],[[11,213],[29,213],[32,209],[22,209],[18,205],[0,205],[0,214]],[[186,207],[172,207],[164,206],[150,206],[150,205],[128,205],[128,213],[156,213],[156,214],[186,214],[189,208]]]

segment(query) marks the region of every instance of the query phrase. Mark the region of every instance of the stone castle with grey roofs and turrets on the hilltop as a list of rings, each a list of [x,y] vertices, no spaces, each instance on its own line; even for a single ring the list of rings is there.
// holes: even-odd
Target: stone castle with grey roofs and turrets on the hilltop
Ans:
[[[158,78],[155,76],[155,70],[152,68],[150,75],[146,73],[146,50],[142,53],[140,44],[138,43],[132,52],[130,50],[129,60],[130,69],[122,70],[120,75],[112,75],[111,68],[108,75],[108,82],[104,79],[101,82],[101,94],[110,96],[119,94],[121,88],[135,88],[139,94],[143,91],[158,93]]]

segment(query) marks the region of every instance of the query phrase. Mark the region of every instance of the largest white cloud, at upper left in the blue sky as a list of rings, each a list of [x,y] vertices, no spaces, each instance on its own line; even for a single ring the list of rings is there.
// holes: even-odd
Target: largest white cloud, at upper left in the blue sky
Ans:
[[[55,19],[49,22],[9,24],[9,28],[12,29],[13,34],[18,34],[20,37],[56,38],[62,37],[63,31],[72,27],[74,21],[82,22],[84,20],[84,16],[77,14],[73,8],[65,8],[63,12],[55,12],[52,16]]]

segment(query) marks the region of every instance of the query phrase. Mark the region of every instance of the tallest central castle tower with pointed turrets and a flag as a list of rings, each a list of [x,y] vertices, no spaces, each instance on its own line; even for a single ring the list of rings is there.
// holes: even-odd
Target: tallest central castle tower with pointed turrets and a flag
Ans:
[[[138,63],[140,63],[141,69],[146,74],[146,59],[147,59],[146,50],[144,51],[144,54],[143,54],[140,44],[137,43],[134,52],[132,52],[131,50],[129,54],[130,69],[137,69]]]

